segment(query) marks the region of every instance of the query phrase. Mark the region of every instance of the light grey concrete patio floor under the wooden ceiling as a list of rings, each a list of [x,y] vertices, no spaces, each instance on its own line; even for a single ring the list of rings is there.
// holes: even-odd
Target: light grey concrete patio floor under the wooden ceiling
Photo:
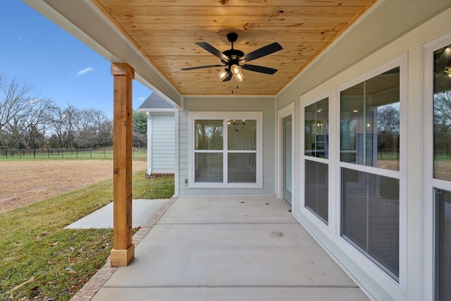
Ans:
[[[273,196],[179,197],[92,300],[369,300]]]

